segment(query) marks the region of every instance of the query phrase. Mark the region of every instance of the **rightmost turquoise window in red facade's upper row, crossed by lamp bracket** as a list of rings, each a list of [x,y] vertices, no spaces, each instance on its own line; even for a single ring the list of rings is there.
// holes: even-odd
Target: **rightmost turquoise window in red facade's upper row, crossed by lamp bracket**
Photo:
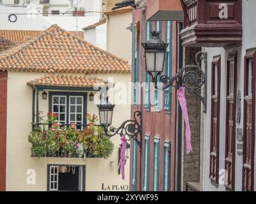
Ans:
[[[165,42],[169,43],[166,50],[165,57],[165,69],[164,75],[168,77],[172,77],[172,21],[165,22]],[[165,112],[171,112],[171,104],[172,104],[172,87],[168,87],[168,89],[164,90],[164,110]]]

